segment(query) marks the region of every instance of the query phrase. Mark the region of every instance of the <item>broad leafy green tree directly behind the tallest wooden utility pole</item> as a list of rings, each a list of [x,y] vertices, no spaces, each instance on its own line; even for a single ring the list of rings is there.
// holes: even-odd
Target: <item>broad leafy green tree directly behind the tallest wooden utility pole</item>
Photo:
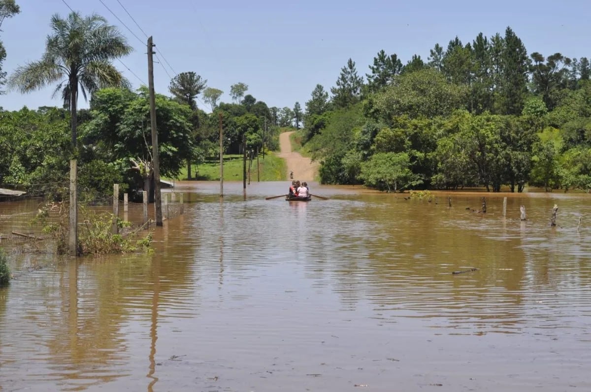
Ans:
[[[126,89],[102,89],[90,102],[91,120],[84,128],[85,154],[106,161],[122,161],[125,171],[135,170],[141,186],[151,192],[153,168],[150,130],[150,100],[145,87],[139,93]],[[178,175],[184,161],[193,152],[189,106],[167,96],[155,96],[158,124],[160,171],[164,176]],[[91,155],[92,156],[92,155]],[[136,188],[129,179],[131,189]]]

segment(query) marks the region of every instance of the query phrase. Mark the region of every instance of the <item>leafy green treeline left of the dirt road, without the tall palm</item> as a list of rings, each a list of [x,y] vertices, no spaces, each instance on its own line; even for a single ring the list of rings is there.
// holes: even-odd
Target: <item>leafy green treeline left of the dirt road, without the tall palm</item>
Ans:
[[[264,102],[246,95],[237,103],[219,103],[206,114],[177,97],[156,95],[160,171],[177,177],[185,165],[200,164],[219,154],[219,115],[225,153],[246,148],[278,147],[278,126]],[[250,104],[249,102],[254,102]],[[267,118],[267,121],[265,121]],[[266,123],[266,132],[265,132]],[[60,195],[68,186],[70,115],[67,109],[0,110],[0,184],[34,195]],[[153,187],[150,104],[145,87],[96,91],[90,108],[77,111],[79,186],[83,197],[98,199],[112,192],[150,191]],[[0,185],[1,187],[1,185]],[[138,195],[136,195],[139,197]]]

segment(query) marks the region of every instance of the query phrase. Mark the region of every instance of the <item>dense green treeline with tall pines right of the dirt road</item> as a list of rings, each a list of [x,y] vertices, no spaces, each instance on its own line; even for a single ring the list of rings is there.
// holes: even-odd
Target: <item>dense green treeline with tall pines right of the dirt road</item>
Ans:
[[[303,140],[323,183],[591,188],[586,57],[528,56],[508,27],[436,44],[427,62],[381,50],[369,70],[365,82],[349,59],[332,96],[317,85],[306,102]]]

